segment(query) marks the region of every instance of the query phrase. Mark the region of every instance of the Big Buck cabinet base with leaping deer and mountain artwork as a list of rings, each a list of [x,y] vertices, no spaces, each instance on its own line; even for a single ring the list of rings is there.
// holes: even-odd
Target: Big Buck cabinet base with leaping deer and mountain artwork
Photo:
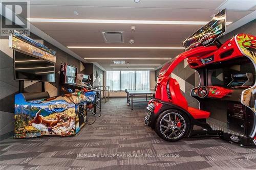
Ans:
[[[22,93],[15,95],[15,138],[41,135],[70,136],[76,134],[76,107],[59,96],[52,101],[26,101]]]

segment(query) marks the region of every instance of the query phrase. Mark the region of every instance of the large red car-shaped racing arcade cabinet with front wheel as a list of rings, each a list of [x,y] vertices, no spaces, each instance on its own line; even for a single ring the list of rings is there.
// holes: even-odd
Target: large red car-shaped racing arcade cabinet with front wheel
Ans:
[[[196,32],[194,40],[196,34],[199,35]],[[167,141],[201,135],[256,145],[256,37],[239,34],[224,44],[215,40],[216,45],[201,46],[206,41],[209,39],[204,39],[195,48],[193,45],[199,41],[189,42],[184,45],[185,49],[188,46],[188,51],[163,66],[158,76],[156,98],[146,108],[145,124]],[[199,73],[200,84],[190,93],[199,102],[199,109],[188,106],[179,83],[170,77],[184,59]],[[195,130],[194,125],[201,128]]]

